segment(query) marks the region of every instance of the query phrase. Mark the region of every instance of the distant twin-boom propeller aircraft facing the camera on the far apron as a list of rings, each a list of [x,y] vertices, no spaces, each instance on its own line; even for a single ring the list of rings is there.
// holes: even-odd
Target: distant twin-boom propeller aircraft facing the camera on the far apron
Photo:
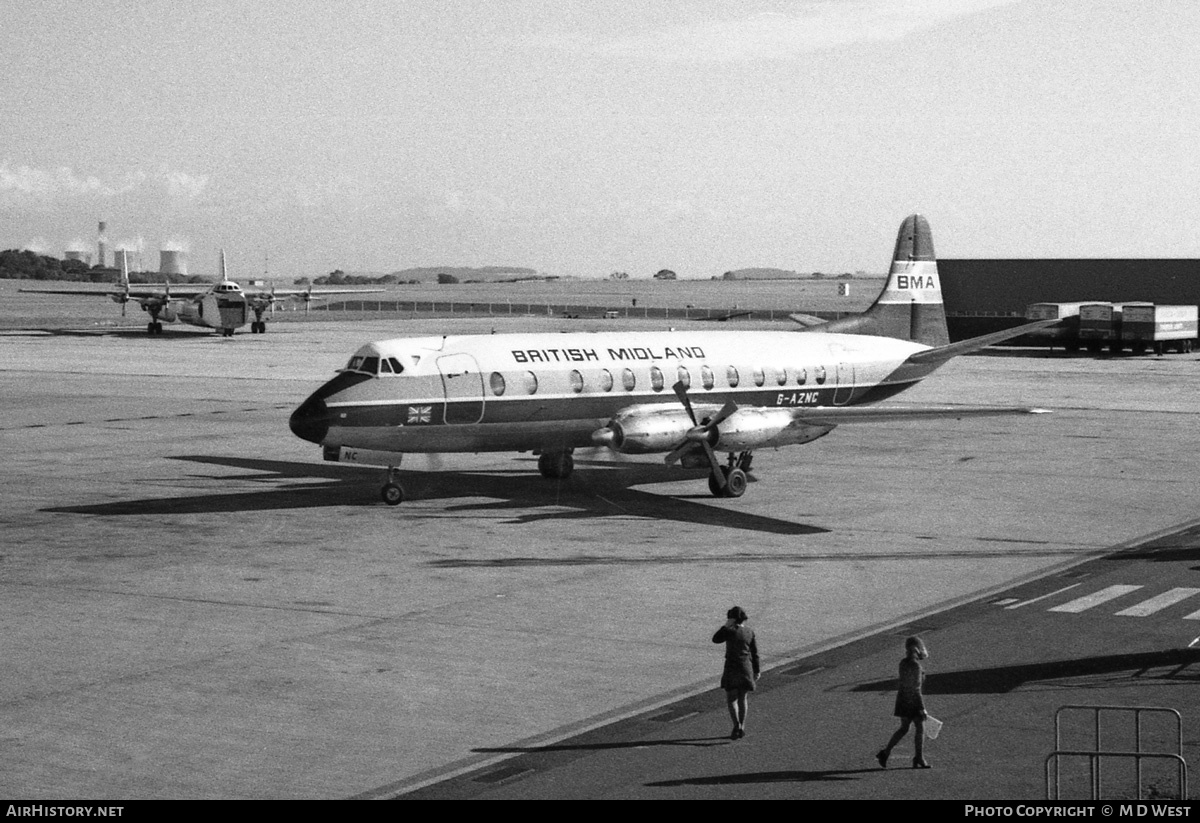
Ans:
[[[158,287],[130,286],[130,272],[126,263],[121,260],[120,288],[112,292],[96,292],[88,289],[20,289],[35,294],[73,294],[90,296],[107,296],[113,302],[121,304],[121,317],[125,317],[125,304],[131,300],[142,306],[142,311],[150,314],[150,323],[146,331],[151,335],[162,334],[162,322],[174,323],[180,320],[193,326],[216,329],[226,337],[232,337],[235,329],[246,325],[250,312],[254,313],[254,319],[250,324],[251,334],[260,335],[266,331],[266,320],[263,314],[276,302],[282,300],[298,299],[305,304],[305,311],[313,300],[329,298],[335,294],[371,294],[384,289],[323,289],[313,292],[307,289],[271,289],[269,292],[244,292],[238,283],[229,280],[226,272],[224,252],[221,252],[221,282],[211,286],[170,286],[163,283]]]

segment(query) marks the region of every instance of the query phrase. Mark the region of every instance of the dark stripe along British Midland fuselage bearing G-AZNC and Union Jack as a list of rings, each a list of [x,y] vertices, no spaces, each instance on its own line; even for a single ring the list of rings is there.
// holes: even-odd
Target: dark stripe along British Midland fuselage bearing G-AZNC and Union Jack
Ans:
[[[848,406],[863,406],[887,400],[911,386],[916,380],[904,383],[877,384],[870,386],[846,386],[834,385],[820,389],[808,389],[805,386],[776,386],[774,389],[758,389],[748,391],[712,391],[700,390],[690,394],[694,406],[700,409],[708,407],[719,408],[726,401],[734,401],[748,408],[776,408],[776,409],[809,409],[820,412],[822,408],[844,408]],[[850,392],[845,403],[835,403],[836,392]],[[799,395],[815,395],[812,402],[794,402],[792,398]],[[780,398],[784,402],[780,402]],[[559,401],[570,400],[569,406],[559,404]],[[796,397],[797,401],[802,400]],[[551,404],[553,403],[553,404]],[[330,410],[338,413],[338,417],[330,421],[332,426],[346,428],[359,427],[395,427],[395,426],[440,426],[457,425],[450,421],[462,420],[466,416],[473,417],[472,422],[487,423],[511,423],[530,422],[535,419],[558,419],[562,410],[569,408],[570,419],[600,419],[611,417],[620,409],[630,406],[676,406],[678,401],[673,395],[664,390],[662,392],[643,394],[611,394],[611,395],[536,395],[526,397],[496,397],[479,396],[473,398],[451,398],[444,396],[388,400],[388,401],[364,401],[329,403]],[[428,417],[420,417],[418,421],[409,420],[409,409],[431,407],[431,412],[437,409],[437,414]],[[443,412],[444,409],[444,412]],[[463,412],[470,414],[463,414]],[[476,412],[478,410],[478,412]],[[539,416],[540,413],[540,416]],[[344,414],[344,417],[341,415]],[[702,414],[700,416],[703,416]]]

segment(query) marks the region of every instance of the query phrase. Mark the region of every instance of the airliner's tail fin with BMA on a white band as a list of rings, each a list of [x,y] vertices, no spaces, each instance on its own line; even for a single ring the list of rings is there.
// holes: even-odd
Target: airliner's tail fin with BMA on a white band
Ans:
[[[878,335],[932,347],[947,346],[950,335],[946,328],[929,221],[920,215],[908,215],[900,223],[888,282],[870,308],[856,317],[809,326],[805,331]]]

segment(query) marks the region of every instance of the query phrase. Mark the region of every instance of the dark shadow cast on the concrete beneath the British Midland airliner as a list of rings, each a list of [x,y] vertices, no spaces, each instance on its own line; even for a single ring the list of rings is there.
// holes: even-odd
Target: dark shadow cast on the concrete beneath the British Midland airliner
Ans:
[[[271,486],[262,491],[197,494],[192,497],[144,498],[74,506],[54,506],[43,512],[137,516],[216,515],[325,506],[379,506],[383,470],[336,463],[179,455],[173,459],[244,469],[252,474],[223,477],[223,481],[252,481]],[[578,462],[577,462],[578,464]],[[443,499],[446,513],[511,511],[512,523],[538,521],[592,519],[598,517],[646,517],[714,525],[746,531],[806,535],[828,531],[815,525],[791,523],[733,507],[692,503],[688,498],[665,497],[632,486],[674,482],[689,475],[678,469],[649,463],[595,463],[596,470],[581,471],[568,481],[548,481],[524,471],[415,471],[406,469],[403,481],[413,500]],[[604,467],[600,470],[600,467]],[[702,475],[701,475],[702,476]],[[206,480],[211,477],[205,475]],[[280,486],[286,481],[286,486]],[[308,481],[308,482],[295,482]],[[700,497],[700,495],[697,495]],[[455,504],[462,498],[486,501]],[[709,499],[709,498],[702,498]],[[404,505],[397,507],[402,517]],[[736,504],[734,504],[736,505]],[[546,507],[552,507],[547,510]],[[539,509],[541,509],[539,511]],[[564,511],[565,509],[565,511]]]

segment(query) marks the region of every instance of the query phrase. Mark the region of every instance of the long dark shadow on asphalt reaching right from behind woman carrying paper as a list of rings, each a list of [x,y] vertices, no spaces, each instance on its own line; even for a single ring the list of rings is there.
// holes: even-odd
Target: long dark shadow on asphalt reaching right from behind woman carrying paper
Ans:
[[[1145,683],[1189,685],[1200,683],[1200,649],[1165,649],[1136,654],[1102,655],[1040,663],[995,666],[925,675],[926,695],[1004,695],[1021,687],[1040,685],[1048,689],[1105,684]],[[1054,681],[1060,681],[1055,684]],[[1069,683],[1062,683],[1069,681]],[[1091,681],[1091,683],[1088,683]],[[896,681],[875,680],[850,689],[857,692],[895,691]]]

